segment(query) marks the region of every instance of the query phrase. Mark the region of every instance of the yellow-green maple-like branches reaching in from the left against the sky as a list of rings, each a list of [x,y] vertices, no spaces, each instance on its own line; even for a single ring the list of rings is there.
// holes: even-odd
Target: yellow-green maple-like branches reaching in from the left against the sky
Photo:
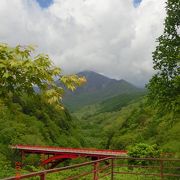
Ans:
[[[54,78],[70,90],[83,84],[84,77],[63,76],[61,69],[53,65],[48,55],[35,55],[31,46],[10,47],[0,44],[0,97],[12,97],[27,93],[34,95],[37,87],[50,104],[61,107],[64,89],[57,86]]]

